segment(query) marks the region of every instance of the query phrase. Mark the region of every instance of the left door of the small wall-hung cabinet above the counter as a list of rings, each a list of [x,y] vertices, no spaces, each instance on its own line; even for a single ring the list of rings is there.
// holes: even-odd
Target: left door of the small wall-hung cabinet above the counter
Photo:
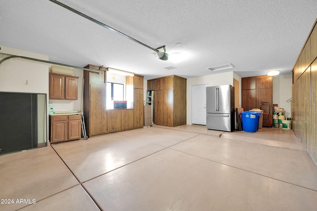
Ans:
[[[64,99],[65,98],[65,77],[50,74],[50,99]]]

